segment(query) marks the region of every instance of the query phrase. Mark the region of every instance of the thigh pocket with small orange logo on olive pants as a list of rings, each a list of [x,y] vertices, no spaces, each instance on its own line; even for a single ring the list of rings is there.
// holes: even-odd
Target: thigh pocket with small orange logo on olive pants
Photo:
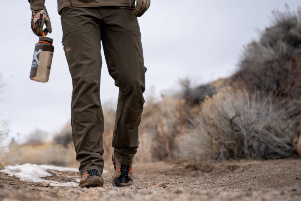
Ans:
[[[63,33],[63,47],[69,68],[71,68],[82,54],[82,35],[79,26],[73,26]]]

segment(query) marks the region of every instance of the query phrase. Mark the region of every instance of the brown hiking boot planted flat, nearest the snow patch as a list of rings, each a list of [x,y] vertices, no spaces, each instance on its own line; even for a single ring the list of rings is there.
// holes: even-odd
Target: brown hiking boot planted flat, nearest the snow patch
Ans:
[[[99,171],[95,169],[85,171],[79,181],[80,187],[102,187],[103,185],[104,179],[99,174]]]

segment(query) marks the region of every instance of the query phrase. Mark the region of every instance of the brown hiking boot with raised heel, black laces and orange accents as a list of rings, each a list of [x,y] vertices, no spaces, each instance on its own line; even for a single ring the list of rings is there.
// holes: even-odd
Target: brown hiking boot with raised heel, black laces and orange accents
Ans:
[[[124,187],[131,186],[134,181],[132,174],[132,165],[124,165],[117,161],[114,153],[112,155],[112,161],[115,168],[115,173],[113,176],[113,186]]]

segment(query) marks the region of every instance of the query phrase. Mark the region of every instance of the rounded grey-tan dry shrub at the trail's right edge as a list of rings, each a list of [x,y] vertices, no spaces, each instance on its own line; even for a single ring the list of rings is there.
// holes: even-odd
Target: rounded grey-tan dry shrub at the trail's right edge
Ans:
[[[194,129],[178,138],[182,157],[197,159],[277,159],[289,157],[298,137],[299,115],[277,108],[272,99],[231,88],[201,105]],[[288,109],[288,110],[287,110]]]

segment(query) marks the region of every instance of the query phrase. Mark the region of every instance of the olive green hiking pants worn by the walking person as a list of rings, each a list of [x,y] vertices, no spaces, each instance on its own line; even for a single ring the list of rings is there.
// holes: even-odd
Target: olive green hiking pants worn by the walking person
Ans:
[[[101,44],[111,77],[119,87],[112,146],[129,165],[137,152],[145,89],[141,34],[133,11],[117,7],[63,8],[63,46],[72,77],[72,138],[82,175],[104,167],[100,102]],[[106,83],[107,84],[107,83]]]

